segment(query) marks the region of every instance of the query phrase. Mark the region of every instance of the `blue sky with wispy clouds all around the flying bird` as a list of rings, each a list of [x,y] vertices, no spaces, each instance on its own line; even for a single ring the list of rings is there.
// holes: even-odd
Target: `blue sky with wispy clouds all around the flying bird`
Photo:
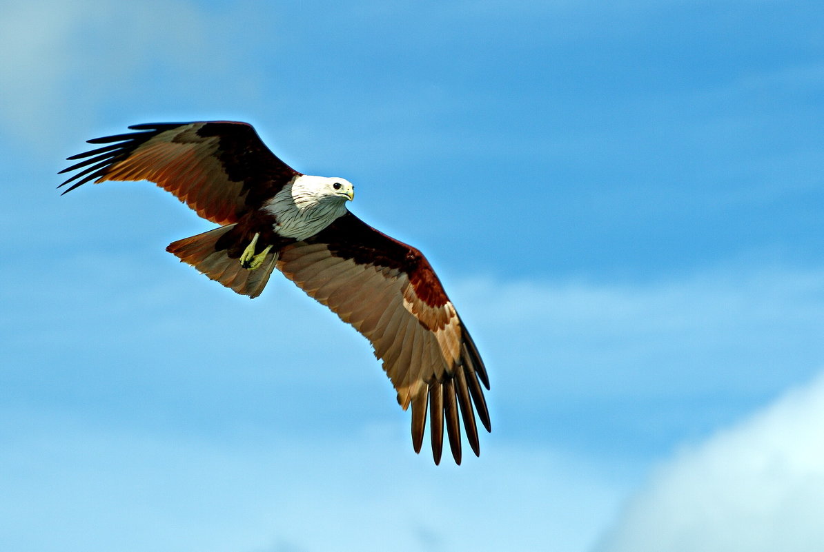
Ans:
[[[681,550],[642,542],[677,534],[655,516],[719,459],[749,474],[753,443],[793,466],[775,485],[813,489],[760,499],[820,511],[794,459],[824,450],[770,436],[824,429],[822,20],[791,0],[2,3],[0,548]],[[288,281],[249,301],[165,253],[210,228],[174,197],[54,189],[88,138],[208,119],[351,180],[352,211],[426,253],[489,366],[480,458],[416,457],[368,343]],[[747,533],[742,489],[771,473],[695,533]]]

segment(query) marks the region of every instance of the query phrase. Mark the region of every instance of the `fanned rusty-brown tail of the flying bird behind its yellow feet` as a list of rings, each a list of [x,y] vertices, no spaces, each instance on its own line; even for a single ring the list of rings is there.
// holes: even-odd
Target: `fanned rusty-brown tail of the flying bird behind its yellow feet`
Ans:
[[[269,253],[263,265],[255,270],[246,270],[241,262],[229,257],[227,249],[217,248],[218,239],[234,228],[226,225],[197,234],[190,238],[179,239],[169,244],[166,251],[180,257],[181,262],[188,262],[214,281],[232,288],[241,295],[255,298],[263,291],[269,275],[278,260],[278,253]]]

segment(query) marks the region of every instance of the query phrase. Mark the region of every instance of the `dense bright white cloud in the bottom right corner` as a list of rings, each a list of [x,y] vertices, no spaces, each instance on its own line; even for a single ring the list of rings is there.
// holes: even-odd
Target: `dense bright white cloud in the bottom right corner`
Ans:
[[[654,472],[599,552],[824,545],[824,376]]]

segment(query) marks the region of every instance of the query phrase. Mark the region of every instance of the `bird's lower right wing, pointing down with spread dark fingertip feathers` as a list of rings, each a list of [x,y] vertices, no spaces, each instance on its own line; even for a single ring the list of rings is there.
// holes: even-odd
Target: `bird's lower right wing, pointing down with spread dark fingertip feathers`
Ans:
[[[489,389],[489,379],[424,255],[347,213],[310,239],[283,248],[277,267],[372,342],[400,406],[406,410],[412,405],[415,452],[421,448],[428,409],[436,464],[444,419],[452,456],[461,463],[458,411],[466,438],[479,454],[475,411],[489,431],[480,387],[482,382]]]

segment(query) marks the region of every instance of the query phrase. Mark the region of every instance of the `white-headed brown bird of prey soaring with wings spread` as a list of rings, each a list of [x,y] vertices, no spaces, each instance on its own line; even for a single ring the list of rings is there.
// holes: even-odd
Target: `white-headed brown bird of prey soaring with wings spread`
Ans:
[[[81,161],[60,171],[79,171],[60,184],[73,183],[63,193],[91,180],[157,183],[219,225],[166,251],[250,298],[277,268],[372,343],[400,406],[412,406],[415,452],[428,411],[436,464],[444,424],[461,463],[459,416],[479,455],[475,415],[491,426],[480,387],[489,389],[489,378],[475,343],[426,257],[349,212],[352,183],[297,172],[247,123],[129,128],[136,132],[89,140],[106,145],[69,157]]]

